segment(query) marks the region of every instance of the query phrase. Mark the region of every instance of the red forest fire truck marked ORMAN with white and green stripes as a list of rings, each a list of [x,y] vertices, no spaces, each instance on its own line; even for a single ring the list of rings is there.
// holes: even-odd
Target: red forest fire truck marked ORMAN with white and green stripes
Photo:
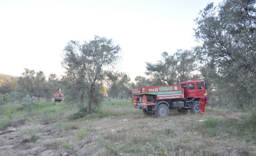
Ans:
[[[133,88],[133,106],[143,113],[163,117],[170,110],[186,113],[199,113],[199,100],[207,92],[203,79],[192,79],[169,86],[150,86]]]

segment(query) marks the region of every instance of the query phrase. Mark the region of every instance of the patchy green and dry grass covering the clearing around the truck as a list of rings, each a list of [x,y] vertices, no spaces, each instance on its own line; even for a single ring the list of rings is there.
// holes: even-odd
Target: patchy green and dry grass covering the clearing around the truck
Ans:
[[[81,145],[79,140],[96,131],[92,142],[81,148],[75,154],[77,156],[119,156],[121,153],[135,156],[217,156],[228,155],[235,148],[237,152],[241,149],[253,155],[256,151],[256,111],[253,110],[232,118],[226,113],[230,110],[217,107],[207,108],[202,117],[172,111],[170,116],[159,119],[145,117],[141,110],[131,106],[129,100],[120,99],[105,99],[100,107],[93,107],[92,114],[87,114],[85,107],[65,102],[36,104],[29,117],[21,105],[4,105],[1,108],[2,129],[17,119],[25,119],[25,123],[20,124],[41,126],[45,121],[56,121],[42,130],[34,129],[28,133],[31,142],[42,143],[47,149],[72,152]],[[204,121],[191,121],[184,117]],[[125,118],[127,122],[123,122]],[[121,129],[111,132],[113,128]],[[62,132],[48,135],[52,129],[61,129]],[[41,136],[42,133],[44,135]]]

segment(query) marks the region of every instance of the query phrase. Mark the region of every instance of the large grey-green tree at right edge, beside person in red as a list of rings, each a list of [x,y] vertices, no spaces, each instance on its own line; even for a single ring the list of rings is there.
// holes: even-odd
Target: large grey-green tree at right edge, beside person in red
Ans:
[[[224,0],[216,7],[210,3],[195,20],[195,37],[202,43],[195,48],[196,56],[216,104],[242,109],[255,102],[255,4],[255,0]]]

